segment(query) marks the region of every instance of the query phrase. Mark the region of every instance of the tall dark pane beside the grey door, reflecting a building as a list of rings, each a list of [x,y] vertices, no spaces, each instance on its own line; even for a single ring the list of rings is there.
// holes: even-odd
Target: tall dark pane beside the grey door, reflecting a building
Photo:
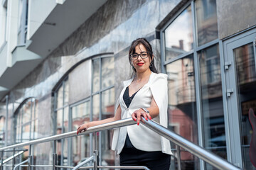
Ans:
[[[201,69],[204,147],[227,159],[218,45],[198,52]],[[208,169],[213,169],[208,166]]]

